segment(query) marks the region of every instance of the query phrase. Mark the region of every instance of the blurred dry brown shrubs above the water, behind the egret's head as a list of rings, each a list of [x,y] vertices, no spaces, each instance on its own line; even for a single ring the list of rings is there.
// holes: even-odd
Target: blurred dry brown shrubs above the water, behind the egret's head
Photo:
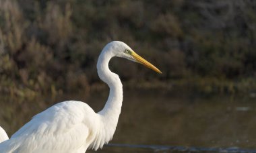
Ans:
[[[99,81],[98,54],[111,40],[126,42],[164,72],[158,77],[113,61],[126,83],[255,91],[255,27],[256,2],[249,0],[0,0],[0,91],[19,97],[88,91]]]

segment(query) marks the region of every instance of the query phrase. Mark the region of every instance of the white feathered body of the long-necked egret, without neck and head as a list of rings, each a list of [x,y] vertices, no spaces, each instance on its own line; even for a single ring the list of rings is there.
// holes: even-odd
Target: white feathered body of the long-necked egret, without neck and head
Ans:
[[[104,140],[106,134],[100,129],[104,128],[101,121],[102,116],[86,103],[57,103],[35,115],[9,140],[2,142],[0,152],[86,152],[90,144],[97,150],[109,141]]]

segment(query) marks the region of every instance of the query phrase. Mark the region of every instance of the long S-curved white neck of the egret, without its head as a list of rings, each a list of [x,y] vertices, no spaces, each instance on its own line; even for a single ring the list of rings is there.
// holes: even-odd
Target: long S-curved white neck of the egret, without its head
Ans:
[[[119,76],[108,68],[108,62],[113,56],[110,50],[103,50],[97,63],[98,75],[110,89],[104,108],[98,112],[103,126],[100,133],[105,137],[103,138],[105,143],[111,140],[115,133],[123,101],[123,85]]]

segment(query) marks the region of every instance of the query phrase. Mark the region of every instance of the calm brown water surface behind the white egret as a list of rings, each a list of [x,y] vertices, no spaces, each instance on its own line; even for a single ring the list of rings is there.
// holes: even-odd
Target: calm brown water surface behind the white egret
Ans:
[[[56,101],[86,101],[99,111],[107,96],[108,93],[97,92],[89,98],[63,95],[57,99],[14,101],[2,95],[0,124],[10,135],[34,114]],[[255,97],[199,97],[182,92],[124,91],[117,132],[110,143],[253,150],[256,148],[255,127]],[[147,149],[150,148],[104,146],[101,152],[147,152]]]

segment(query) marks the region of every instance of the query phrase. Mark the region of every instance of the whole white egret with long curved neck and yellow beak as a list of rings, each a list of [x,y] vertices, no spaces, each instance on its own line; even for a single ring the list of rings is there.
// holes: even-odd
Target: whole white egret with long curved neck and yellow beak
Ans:
[[[115,133],[123,101],[119,76],[108,68],[108,62],[114,56],[139,62],[162,73],[127,44],[110,42],[103,48],[97,63],[98,76],[110,88],[104,108],[95,113],[81,101],[57,103],[32,117],[9,140],[1,142],[0,152],[78,153],[86,152],[88,148],[98,150],[108,143]]]

